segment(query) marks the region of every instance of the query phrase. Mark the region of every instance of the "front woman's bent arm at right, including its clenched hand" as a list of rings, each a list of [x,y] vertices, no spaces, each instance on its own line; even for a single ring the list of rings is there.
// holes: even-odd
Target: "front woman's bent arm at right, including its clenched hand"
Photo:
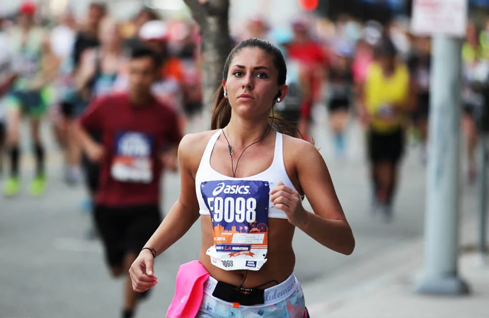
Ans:
[[[325,247],[349,255],[355,238],[336,197],[324,159],[309,142],[295,139],[294,161],[299,183],[314,213],[302,206],[300,195],[282,182],[270,194],[270,201],[287,214],[289,222]],[[292,147],[292,146],[291,146]]]

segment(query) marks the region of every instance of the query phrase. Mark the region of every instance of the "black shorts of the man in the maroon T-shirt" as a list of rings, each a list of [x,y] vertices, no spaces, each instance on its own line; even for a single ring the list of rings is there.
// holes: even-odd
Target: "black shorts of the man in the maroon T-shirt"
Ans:
[[[107,207],[97,205],[93,214],[110,267],[122,267],[128,252],[136,255],[161,223],[157,205]]]

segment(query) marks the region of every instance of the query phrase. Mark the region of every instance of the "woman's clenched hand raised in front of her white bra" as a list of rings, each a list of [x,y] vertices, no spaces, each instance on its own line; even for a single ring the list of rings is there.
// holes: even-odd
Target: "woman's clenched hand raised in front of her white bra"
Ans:
[[[276,208],[285,212],[289,223],[293,226],[301,225],[306,219],[307,212],[302,207],[301,195],[283,182],[279,181],[278,185],[270,191],[270,201]]]

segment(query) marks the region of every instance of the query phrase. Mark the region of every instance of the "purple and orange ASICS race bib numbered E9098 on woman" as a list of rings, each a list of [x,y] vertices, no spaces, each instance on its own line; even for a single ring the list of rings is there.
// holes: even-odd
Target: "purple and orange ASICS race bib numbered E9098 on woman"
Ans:
[[[200,184],[210,211],[214,266],[258,271],[267,262],[270,186],[265,181],[209,181]]]

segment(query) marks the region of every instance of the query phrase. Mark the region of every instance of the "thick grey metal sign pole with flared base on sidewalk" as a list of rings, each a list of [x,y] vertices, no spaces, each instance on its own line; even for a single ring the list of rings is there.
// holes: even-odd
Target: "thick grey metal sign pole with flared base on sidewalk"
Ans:
[[[468,294],[457,274],[459,133],[462,40],[436,35],[432,42],[425,274],[421,294]]]

